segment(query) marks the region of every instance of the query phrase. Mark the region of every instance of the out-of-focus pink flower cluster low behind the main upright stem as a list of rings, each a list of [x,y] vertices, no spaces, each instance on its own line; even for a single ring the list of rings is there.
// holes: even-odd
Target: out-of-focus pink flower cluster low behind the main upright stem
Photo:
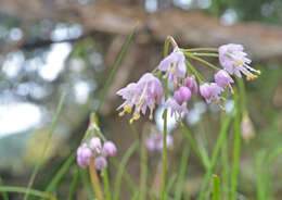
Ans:
[[[174,145],[174,138],[170,135],[167,135],[166,145],[168,148],[171,148]],[[162,151],[164,147],[164,137],[163,134],[150,134],[145,140],[145,146],[150,151]]]

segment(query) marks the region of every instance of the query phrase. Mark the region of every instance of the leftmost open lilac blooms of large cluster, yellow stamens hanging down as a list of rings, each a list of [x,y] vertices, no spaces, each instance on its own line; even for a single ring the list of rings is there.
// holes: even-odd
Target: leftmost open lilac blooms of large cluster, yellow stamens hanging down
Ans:
[[[130,120],[130,124],[132,124],[139,120],[140,112],[145,114],[148,108],[150,110],[150,120],[153,120],[153,111],[163,97],[163,86],[153,74],[145,73],[138,83],[131,83],[116,93],[125,99],[125,102],[117,108],[117,110],[124,109],[119,116],[125,115],[125,113],[130,114],[134,107],[133,115]]]

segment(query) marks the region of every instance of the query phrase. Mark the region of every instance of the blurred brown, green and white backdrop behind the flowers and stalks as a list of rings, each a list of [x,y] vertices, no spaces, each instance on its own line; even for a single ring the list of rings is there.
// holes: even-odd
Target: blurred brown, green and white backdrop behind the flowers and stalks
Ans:
[[[99,113],[103,133],[117,143],[118,157],[123,157],[134,135],[128,118],[117,115],[121,100],[115,92],[158,64],[168,35],[182,48],[243,43],[253,59],[252,66],[259,68],[261,75],[246,82],[248,125],[254,137],[243,142],[239,190],[243,197],[256,199],[256,155],[282,146],[281,11],[281,0],[0,0],[0,175],[4,184],[27,185],[60,96],[65,92],[59,124],[35,183],[38,189],[46,187],[79,145],[101,88],[127,36],[139,22]],[[211,77],[209,70],[194,64],[204,76]],[[230,107],[232,103],[227,101]],[[189,108],[189,127],[196,138],[204,137],[207,148],[213,148],[219,111],[213,104],[205,105],[200,98]],[[156,118],[158,113],[159,110]],[[144,123],[144,118],[136,123],[140,134]],[[172,130],[174,123],[171,120],[175,147],[169,159],[175,165],[169,167],[176,170],[184,143],[181,133]],[[149,153],[151,174],[158,158],[157,152]],[[272,168],[272,190],[278,200],[282,196],[281,168],[280,159]],[[69,188],[73,170],[57,188],[62,199]],[[127,170],[138,182],[138,153],[130,159]],[[192,153],[185,180],[192,197],[198,191],[203,172]],[[114,174],[115,168],[111,167],[110,173]],[[125,187],[124,199],[127,190]],[[82,186],[78,196],[86,196]],[[11,195],[12,199],[17,197]]]

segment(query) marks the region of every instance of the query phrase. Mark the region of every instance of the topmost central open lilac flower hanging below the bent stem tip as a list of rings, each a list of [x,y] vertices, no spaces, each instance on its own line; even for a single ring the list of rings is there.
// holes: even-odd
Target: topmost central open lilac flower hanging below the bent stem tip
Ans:
[[[176,49],[158,65],[158,70],[166,72],[164,77],[168,77],[174,83],[179,83],[180,78],[184,78],[187,73],[185,57],[182,51]]]

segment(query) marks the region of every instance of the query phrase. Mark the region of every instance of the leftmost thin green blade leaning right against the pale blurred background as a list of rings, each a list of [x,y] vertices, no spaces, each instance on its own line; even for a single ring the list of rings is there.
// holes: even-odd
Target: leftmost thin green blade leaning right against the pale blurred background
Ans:
[[[56,107],[55,115],[54,115],[54,117],[53,117],[51,127],[50,127],[50,129],[49,129],[47,139],[46,139],[46,141],[44,141],[43,150],[42,150],[42,152],[41,152],[40,158],[38,159],[38,161],[37,161],[37,163],[36,163],[36,166],[35,166],[35,168],[34,168],[34,172],[33,172],[33,174],[31,174],[31,176],[30,176],[30,179],[29,179],[29,182],[28,182],[27,190],[29,190],[29,189],[33,187],[33,184],[34,184],[35,178],[36,178],[36,175],[37,175],[37,173],[38,173],[38,171],[39,171],[39,167],[41,166],[42,161],[43,161],[43,159],[44,159],[44,157],[46,157],[46,152],[47,152],[47,150],[48,150],[48,147],[49,147],[51,137],[52,137],[52,135],[53,135],[53,132],[54,132],[54,129],[55,129],[56,123],[57,123],[57,121],[59,121],[59,116],[60,116],[60,113],[61,113],[61,111],[62,111],[64,100],[65,100],[65,95],[62,95],[61,98],[60,98],[60,102],[59,102],[59,104],[57,104],[57,107]],[[27,199],[28,199],[28,196],[29,196],[29,192],[26,192],[26,193],[25,193],[25,197],[24,197],[24,200],[27,200]]]

